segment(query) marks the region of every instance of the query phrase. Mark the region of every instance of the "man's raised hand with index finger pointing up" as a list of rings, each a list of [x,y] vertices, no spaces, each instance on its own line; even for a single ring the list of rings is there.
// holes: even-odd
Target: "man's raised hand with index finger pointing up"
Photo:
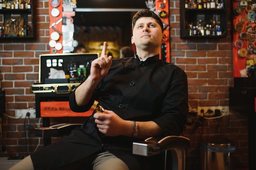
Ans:
[[[107,42],[103,43],[103,49],[101,52],[101,57],[94,59],[92,61],[90,78],[95,81],[101,81],[101,79],[108,74],[108,70],[112,64],[112,56],[107,56]]]

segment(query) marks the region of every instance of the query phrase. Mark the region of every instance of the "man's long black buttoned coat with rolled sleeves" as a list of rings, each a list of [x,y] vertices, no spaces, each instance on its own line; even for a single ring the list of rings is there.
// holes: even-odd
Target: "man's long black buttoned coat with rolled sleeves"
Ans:
[[[70,94],[72,111],[88,111],[94,100],[98,100],[101,106],[114,111],[124,120],[154,121],[166,136],[182,133],[188,113],[186,74],[176,65],[160,60],[159,55],[146,61],[140,61],[137,55],[132,58],[113,59],[108,74],[94,90],[88,105],[77,106],[74,95],[74,92]],[[65,151],[62,151],[60,159],[49,159],[47,164],[53,162],[48,166],[51,168],[54,165],[72,163],[84,157],[92,157],[94,153],[106,149],[122,159],[130,170],[147,169],[145,167],[150,165],[149,160],[153,157],[132,155],[132,142],[141,140],[144,139],[105,136],[98,131],[93,116],[90,116],[81,129],[74,130],[69,137],[49,146],[56,152],[65,145],[72,146],[70,156],[63,156]],[[31,158],[36,169],[42,164],[35,163],[38,162],[35,155],[38,154],[31,155]]]

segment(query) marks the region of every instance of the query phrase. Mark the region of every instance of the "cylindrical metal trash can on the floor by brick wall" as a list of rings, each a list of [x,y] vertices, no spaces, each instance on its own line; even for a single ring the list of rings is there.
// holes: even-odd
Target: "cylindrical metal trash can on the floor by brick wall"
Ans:
[[[200,141],[201,170],[232,170],[231,153],[236,151],[232,141],[222,137],[207,137]]]

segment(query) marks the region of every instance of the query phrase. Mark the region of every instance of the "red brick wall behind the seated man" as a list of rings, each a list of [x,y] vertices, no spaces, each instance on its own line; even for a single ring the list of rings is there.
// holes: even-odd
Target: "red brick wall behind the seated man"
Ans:
[[[228,106],[229,87],[232,86],[232,33],[231,7],[228,7],[228,36],[221,39],[180,39],[180,2],[170,0],[170,39],[171,62],[186,71],[189,83],[189,103],[197,106]],[[227,0],[230,4],[230,0]],[[35,107],[34,94],[29,85],[38,81],[39,54],[49,53],[49,15],[48,0],[36,0],[37,39],[36,40],[0,40],[0,70],[2,88],[6,92],[6,114],[15,116],[16,109]],[[0,23],[2,18],[0,17]],[[83,122],[81,118],[51,118],[52,124],[63,122]],[[39,118],[26,121],[31,126],[42,125]],[[247,117],[229,111],[229,116],[219,120],[204,121],[198,128],[186,126],[183,135],[191,139],[188,150],[187,168],[198,170],[198,140],[202,136],[221,135],[234,141],[238,150],[233,154],[234,168],[248,167]],[[26,138],[27,144],[26,146]],[[53,142],[56,139],[52,139]],[[3,118],[1,145],[6,146],[1,156],[26,156],[38,146],[33,128],[24,133],[24,119]],[[43,140],[40,146],[43,147]],[[5,150],[5,147],[3,148]]]

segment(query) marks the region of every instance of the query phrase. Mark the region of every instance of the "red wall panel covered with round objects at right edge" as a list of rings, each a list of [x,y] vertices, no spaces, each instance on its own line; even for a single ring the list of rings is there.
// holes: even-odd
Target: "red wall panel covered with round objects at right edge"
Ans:
[[[256,65],[256,0],[233,0],[233,12],[233,76],[248,77]]]

